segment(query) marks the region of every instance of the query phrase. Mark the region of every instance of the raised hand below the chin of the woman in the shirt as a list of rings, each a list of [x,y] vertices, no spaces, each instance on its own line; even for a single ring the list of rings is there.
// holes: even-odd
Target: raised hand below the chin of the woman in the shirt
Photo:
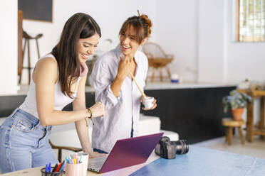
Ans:
[[[118,74],[117,77],[121,80],[125,79],[130,72],[132,72],[133,66],[129,59],[129,57],[126,57],[123,59],[123,57],[120,57],[120,62],[118,65]]]

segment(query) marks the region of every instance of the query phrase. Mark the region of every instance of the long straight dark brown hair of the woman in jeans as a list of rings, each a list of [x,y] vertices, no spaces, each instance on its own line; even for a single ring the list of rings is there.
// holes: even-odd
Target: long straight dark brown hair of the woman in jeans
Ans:
[[[80,75],[78,40],[90,38],[95,33],[101,37],[98,23],[88,14],[76,13],[66,21],[61,38],[51,52],[58,62],[61,91],[68,97],[73,98],[71,84],[76,82]]]

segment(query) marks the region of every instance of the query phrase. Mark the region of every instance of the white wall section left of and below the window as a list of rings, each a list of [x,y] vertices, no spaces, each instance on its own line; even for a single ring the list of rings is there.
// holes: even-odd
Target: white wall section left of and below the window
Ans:
[[[232,1],[227,3],[227,82],[265,81],[265,43],[236,43],[232,41]]]

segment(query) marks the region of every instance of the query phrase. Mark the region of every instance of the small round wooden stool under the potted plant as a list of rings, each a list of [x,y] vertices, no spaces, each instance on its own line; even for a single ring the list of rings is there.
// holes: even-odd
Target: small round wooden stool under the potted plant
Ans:
[[[223,126],[226,127],[226,140],[225,141],[226,141],[226,143],[228,143],[228,145],[232,144],[233,128],[238,128],[239,135],[241,138],[241,143],[242,144],[245,143],[242,128],[241,128],[241,126],[244,125],[244,123],[245,123],[245,121],[243,121],[243,120],[234,121],[231,118],[222,119],[222,124],[223,124]]]

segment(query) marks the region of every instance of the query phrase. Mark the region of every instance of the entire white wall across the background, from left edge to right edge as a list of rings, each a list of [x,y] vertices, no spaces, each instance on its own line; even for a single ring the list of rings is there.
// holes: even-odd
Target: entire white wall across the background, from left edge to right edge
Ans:
[[[1,40],[5,41],[0,44],[0,94],[9,94],[16,92],[17,87],[17,2],[1,1],[0,8],[1,22],[5,24],[0,29]],[[100,43],[111,38],[113,48],[118,43],[123,21],[137,15],[137,9],[150,16],[154,23],[150,40],[159,43],[166,53],[175,55],[171,70],[185,81],[237,83],[245,78],[264,81],[265,43],[232,42],[232,0],[100,0],[89,3],[56,0],[53,1],[53,23],[24,20],[23,25],[30,35],[43,33],[39,45],[41,55],[45,55],[56,45],[63,24],[73,13],[89,13],[102,29]],[[33,42],[31,58],[33,66],[37,60]],[[23,75],[22,82],[26,83],[26,70]]]

